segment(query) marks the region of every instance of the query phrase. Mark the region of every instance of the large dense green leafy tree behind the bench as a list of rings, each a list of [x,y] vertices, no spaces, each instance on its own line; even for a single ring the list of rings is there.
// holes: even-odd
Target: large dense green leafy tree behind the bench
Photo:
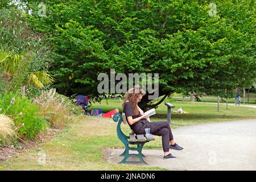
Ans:
[[[26,1],[54,47],[59,92],[97,92],[98,73],[159,73],[159,96],[231,95],[255,78],[255,1]],[[216,6],[216,10],[214,9]],[[150,100],[143,97],[142,107]]]

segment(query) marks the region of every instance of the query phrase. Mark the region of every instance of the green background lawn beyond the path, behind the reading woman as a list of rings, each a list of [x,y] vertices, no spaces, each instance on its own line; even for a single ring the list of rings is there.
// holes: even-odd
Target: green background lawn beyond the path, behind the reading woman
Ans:
[[[196,125],[207,122],[220,122],[236,119],[256,118],[256,109],[242,106],[228,105],[226,110],[225,104],[220,104],[220,111],[217,111],[217,105],[200,103],[200,102],[183,102],[166,99],[164,102],[170,102],[175,105],[172,109],[173,128],[179,126]],[[156,114],[150,117],[151,121],[167,121],[167,106],[164,102],[156,109]],[[174,113],[173,110],[182,108],[188,114]],[[109,110],[118,108],[122,111],[122,101],[119,100],[103,100],[101,103],[93,104],[90,109],[102,109],[104,113]]]

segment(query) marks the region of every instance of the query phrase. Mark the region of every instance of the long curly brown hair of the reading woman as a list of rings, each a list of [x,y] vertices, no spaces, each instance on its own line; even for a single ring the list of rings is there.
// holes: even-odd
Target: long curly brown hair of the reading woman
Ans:
[[[144,96],[145,92],[140,86],[134,86],[133,88],[130,88],[126,94],[125,94],[125,101],[122,104],[122,107],[125,105],[125,102],[128,100],[131,102],[131,105],[133,107],[133,114],[137,115],[139,114],[139,109],[137,107],[137,98],[139,98],[139,94],[142,94]]]

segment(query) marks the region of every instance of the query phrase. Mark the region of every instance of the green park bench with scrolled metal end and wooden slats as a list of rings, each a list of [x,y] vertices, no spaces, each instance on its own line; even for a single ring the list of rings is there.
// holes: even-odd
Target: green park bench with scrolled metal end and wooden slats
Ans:
[[[149,135],[136,135],[134,133],[130,133],[129,136],[125,135],[123,131],[121,130],[121,124],[126,123],[126,119],[122,118],[122,114],[120,113],[115,113],[113,116],[113,121],[118,122],[117,123],[117,136],[121,140],[121,142],[125,145],[125,151],[120,155],[124,156],[123,160],[120,163],[125,164],[126,161],[130,156],[136,156],[139,158],[141,163],[146,164],[144,162],[142,156],[142,148],[145,143],[150,142],[152,140],[155,140],[152,134]],[[129,145],[135,145],[137,147],[130,147]],[[138,154],[129,154],[129,151],[138,151]]]

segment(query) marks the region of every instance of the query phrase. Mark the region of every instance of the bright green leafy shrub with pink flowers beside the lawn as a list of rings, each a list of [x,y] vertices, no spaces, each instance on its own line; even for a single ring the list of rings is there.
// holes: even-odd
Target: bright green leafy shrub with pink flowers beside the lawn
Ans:
[[[0,108],[2,108],[0,113],[13,118],[16,134],[22,139],[34,139],[47,127],[46,121],[39,117],[39,106],[27,97],[5,92],[0,96]]]

